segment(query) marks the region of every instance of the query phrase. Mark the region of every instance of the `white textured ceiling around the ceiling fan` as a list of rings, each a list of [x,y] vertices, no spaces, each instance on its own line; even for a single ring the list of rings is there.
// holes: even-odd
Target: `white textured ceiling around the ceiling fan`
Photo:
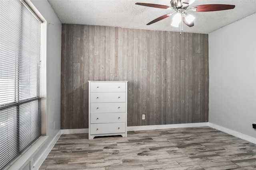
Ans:
[[[172,16],[146,25],[174,10],[135,5],[136,2],[141,2],[170,6],[170,0],[48,0],[48,2],[62,23],[180,31],[179,27],[170,25]],[[183,31],[210,33],[256,13],[256,0],[196,0],[189,8],[202,4],[230,4],[236,7],[232,10],[214,12],[187,11],[196,19],[193,27],[183,24]]]

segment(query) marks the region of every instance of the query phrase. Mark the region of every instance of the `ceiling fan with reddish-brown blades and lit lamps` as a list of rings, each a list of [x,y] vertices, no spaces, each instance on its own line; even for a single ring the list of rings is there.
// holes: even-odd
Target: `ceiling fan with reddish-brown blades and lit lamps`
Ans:
[[[194,12],[209,12],[209,11],[230,10],[235,8],[234,5],[226,5],[226,4],[206,4],[206,5],[198,5],[198,6],[193,6],[191,8],[188,8],[188,6],[192,4],[194,1],[195,0],[171,0],[170,2],[171,6],[159,5],[159,4],[147,4],[147,3],[136,3],[136,5],[175,10],[175,12],[165,14],[147,23],[147,25],[150,25],[152,23],[163,20],[164,18],[167,18],[175,14],[174,17],[172,18],[172,24],[171,24],[174,27],[178,27],[181,20],[183,21],[183,23],[185,23],[189,27],[194,26],[195,18],[194,16],[186,13],[185,12],[186,10],[194,11]]]

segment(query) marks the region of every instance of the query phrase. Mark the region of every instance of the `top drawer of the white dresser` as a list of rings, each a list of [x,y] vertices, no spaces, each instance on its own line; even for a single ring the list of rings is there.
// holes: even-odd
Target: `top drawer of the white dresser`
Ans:
[[[125,82],[90,82],[91,92],[125,92]]]

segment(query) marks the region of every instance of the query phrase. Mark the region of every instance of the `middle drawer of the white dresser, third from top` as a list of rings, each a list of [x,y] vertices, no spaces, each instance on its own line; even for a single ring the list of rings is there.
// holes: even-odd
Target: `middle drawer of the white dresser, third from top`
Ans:
[[[124,103],[91,103],[91,113],[125,112]],[[90,114],[90,113],[89,113]]]

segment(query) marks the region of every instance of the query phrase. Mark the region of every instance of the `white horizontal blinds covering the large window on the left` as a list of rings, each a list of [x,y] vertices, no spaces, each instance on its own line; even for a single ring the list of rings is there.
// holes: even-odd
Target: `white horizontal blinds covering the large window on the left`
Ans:
[[[41,136],[41,22],[21,0],[0,0],[0,169]]]

